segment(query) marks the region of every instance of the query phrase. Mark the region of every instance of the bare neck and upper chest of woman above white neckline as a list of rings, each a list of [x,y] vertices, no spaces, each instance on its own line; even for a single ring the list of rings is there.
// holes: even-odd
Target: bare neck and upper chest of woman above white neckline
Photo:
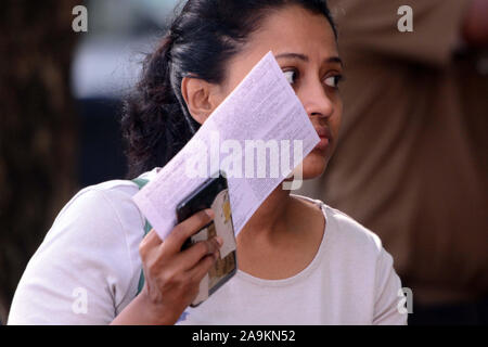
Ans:
[[[259,279],[287,279],[316,256],[325,230],[320,207],[280,184],[236,237],[239,269]]]

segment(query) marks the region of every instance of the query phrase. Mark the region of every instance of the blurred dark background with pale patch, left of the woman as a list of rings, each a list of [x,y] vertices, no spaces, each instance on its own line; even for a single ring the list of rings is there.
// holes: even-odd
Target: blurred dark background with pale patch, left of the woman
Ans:
[[[9,0],[0,13],[0,321],[27,261],[81,188],[126,175],[120,100],[174,0]],[[75,33],[73,8],[88,10]]]

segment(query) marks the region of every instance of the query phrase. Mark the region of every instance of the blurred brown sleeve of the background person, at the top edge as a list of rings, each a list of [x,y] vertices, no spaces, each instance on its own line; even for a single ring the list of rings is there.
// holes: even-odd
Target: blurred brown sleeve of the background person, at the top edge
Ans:
[[[463,39],[472,0],[330,0],[348,52],[375,54],[422,64],[447,64]],[[476,0],[477,1],[477,0]],[[400,33],[397,11],[413,10],[413,33]]]

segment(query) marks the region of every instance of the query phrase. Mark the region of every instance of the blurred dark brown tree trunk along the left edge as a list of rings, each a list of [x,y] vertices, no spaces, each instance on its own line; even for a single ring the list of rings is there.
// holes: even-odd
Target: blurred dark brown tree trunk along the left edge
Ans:
[[[69,90],[74,0],[0,11],[0,320],[55,215],[78,189]]]

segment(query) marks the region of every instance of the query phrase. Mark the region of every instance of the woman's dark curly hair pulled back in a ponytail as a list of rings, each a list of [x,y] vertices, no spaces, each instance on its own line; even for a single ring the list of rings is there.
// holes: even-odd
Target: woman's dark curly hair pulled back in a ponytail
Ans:
[[[185,2],[159,47],[146,56],[136,90],[124,101],[121,132],[127,146],[127,178],[166,165],[200,128],[181,95],[183,77],[223,82],[227,63],[266,15],[291,4],[323,14],[337,38],[324,0]]]

